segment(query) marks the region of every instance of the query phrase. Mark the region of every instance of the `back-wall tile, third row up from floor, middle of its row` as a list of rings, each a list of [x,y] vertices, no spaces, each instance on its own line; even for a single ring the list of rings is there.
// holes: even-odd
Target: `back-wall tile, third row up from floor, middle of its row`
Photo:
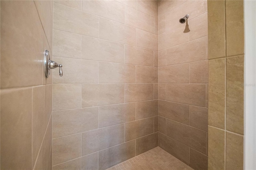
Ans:
[[[99,128],[135,121],[135,103],[100,106]]]

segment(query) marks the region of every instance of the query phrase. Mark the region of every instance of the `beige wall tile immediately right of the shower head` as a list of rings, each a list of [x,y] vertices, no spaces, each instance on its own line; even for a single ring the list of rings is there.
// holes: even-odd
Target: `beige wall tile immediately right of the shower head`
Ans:
[[[204,36],[208,36],[208,17],[207,12],[190,20],[189,40],[195,40]]]

